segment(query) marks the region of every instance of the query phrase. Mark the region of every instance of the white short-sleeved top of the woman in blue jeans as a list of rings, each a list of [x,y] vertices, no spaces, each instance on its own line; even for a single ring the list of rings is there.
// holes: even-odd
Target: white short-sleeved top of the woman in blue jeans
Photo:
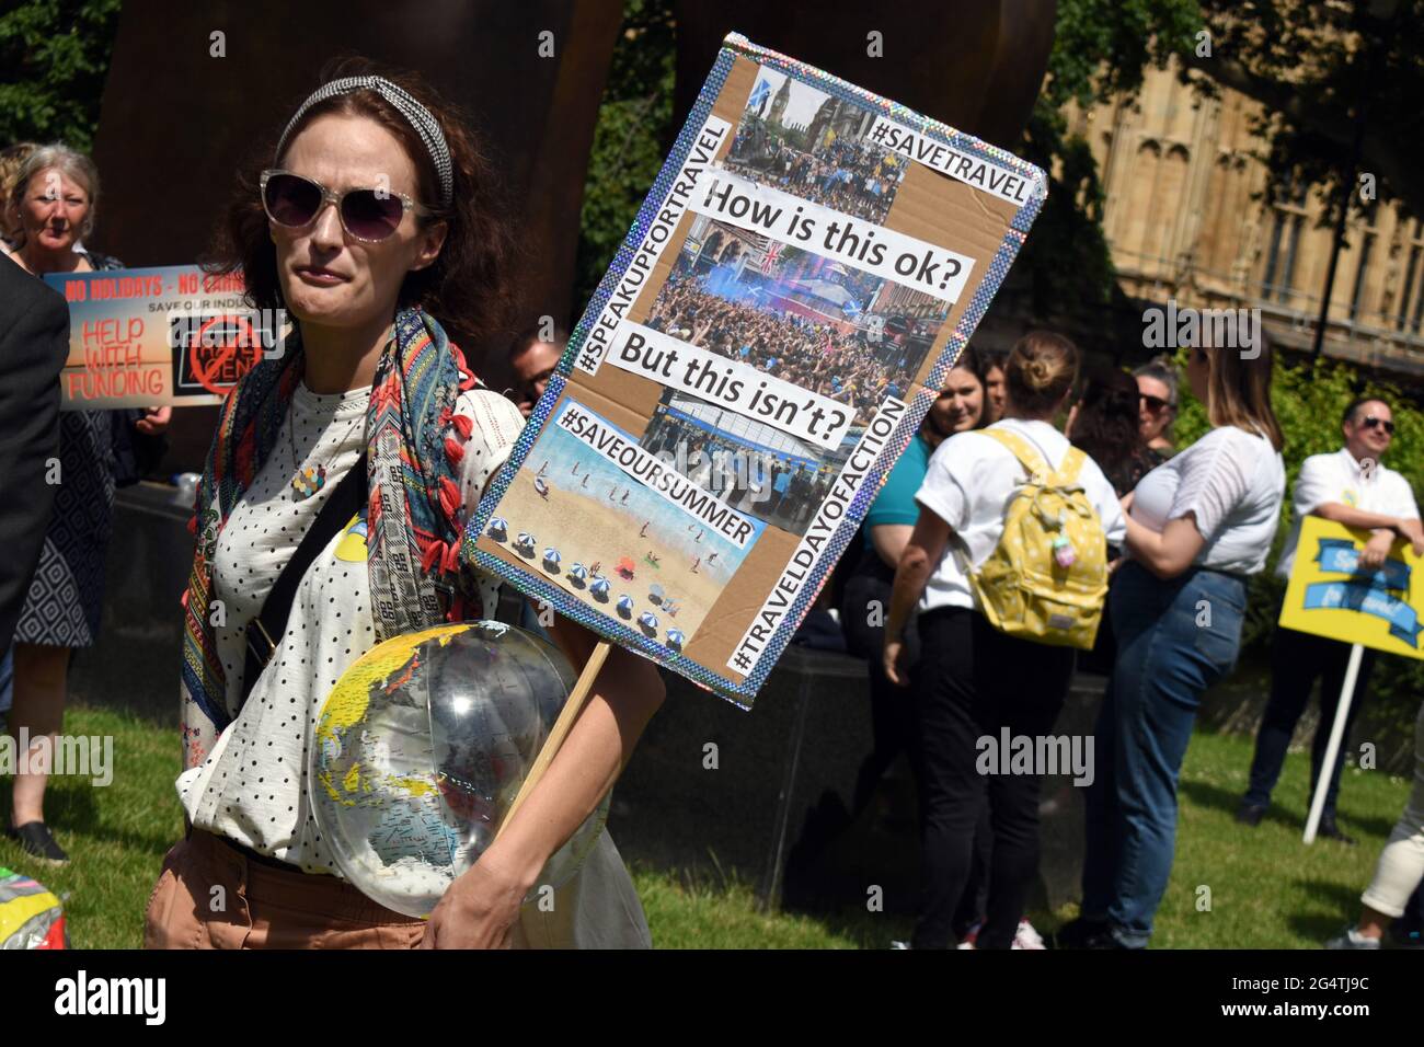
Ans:
[[[1266,566],[1286,497],[1286,463],[1262,433],[1213,429],[1142,477],[1132,519],[1161,533],[1169,520],[1196,514],[1206,544],[1198,567],[1256,574]]]

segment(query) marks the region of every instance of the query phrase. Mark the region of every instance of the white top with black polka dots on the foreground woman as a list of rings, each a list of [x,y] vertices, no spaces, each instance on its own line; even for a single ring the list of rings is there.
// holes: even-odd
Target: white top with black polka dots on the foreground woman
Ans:
[[[369,389],[322,396],[299,385],[275,449],[218,537],[214,598],[225,604],[226,625],[216,630],[216,650],[229,714],[242,694],[246,625],[326,497],[360,457],[369,400]],[[463,393],[456,413],[473,423],[460,462],[463,514],[468,514],[508,457],[524,417],[487,389]],[[290,483],[293,454],[302,466],[325,463],[328,469],[322,490],[300,501]],[[498,581],[487,574],[478,581],[486,613],[493,614]],[[363,510],[302,577],[286,632],[241,715],[204,764],[178,776],[179,799],[195,826],[305,872],[340,875],[310,812],[306,755],[326,695],[376,642],[367,587]],[[637,890],[607,830],[580,873],[555,893],[553,912],[524,907],[515,943],[649,944]]]

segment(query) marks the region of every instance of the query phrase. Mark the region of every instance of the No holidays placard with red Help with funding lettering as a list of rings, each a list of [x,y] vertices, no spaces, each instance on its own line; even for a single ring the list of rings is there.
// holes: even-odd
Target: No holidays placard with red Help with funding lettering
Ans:
[[[246,306],[241,274],[165,265],[44,279],[70,306],[61,410],[219,403],[282,352],[281,311]]]

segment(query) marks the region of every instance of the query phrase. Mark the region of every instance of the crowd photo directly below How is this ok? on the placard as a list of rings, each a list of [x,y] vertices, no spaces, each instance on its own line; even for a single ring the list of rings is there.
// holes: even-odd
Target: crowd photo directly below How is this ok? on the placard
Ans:
[[[844,403],[859,423],[887,396],[907,395],[946,303],[765,238],[760,265],[748,265],[750,245],[716,261],[715,236],[733,229],[709,229],[701,242],[689,238],[646,326]]]

